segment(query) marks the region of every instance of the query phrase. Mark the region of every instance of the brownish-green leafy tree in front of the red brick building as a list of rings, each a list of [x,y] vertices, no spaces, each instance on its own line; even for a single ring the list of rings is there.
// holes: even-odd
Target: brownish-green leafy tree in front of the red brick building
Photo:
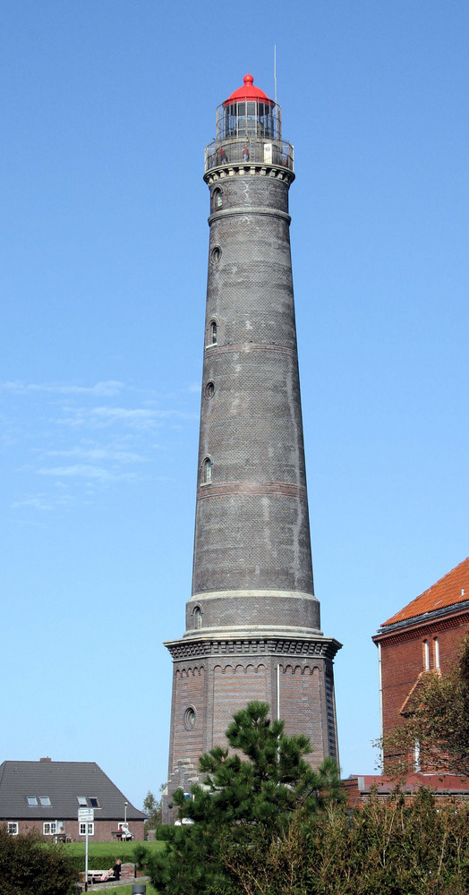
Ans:
[[[405,722],[382,741],[385,767],[396,779],[414,771],[419,744],[422,770],[469,775],[469,636],[456,665],[441,675],[422,672],[405,712]]]

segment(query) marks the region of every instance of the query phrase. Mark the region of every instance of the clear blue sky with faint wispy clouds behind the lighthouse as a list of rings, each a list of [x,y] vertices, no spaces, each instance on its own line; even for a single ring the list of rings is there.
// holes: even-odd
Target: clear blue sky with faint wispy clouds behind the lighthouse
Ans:
[[[4,0],[0,760],[166,780],[191,592],[203,150],[252,72],[290,191],[316,593],[345,775],[379,623],[468,550],[469,6]]]

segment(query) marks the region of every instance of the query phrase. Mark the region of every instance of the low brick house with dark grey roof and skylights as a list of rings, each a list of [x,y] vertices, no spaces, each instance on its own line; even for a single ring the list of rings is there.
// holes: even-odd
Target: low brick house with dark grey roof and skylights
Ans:
[[[0,764],[0,823],[12,836],[38,831],[47,839],[85,840],[80,808],[91,808],[88,834],[107,842],[123,823],[143,840],[146,814],[135,808],[95,762],[4,762]]]

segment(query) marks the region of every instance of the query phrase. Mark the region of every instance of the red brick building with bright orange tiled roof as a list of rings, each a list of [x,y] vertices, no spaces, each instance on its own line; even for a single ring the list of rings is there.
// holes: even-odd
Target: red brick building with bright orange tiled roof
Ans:
[[[379,650],[381,737],[405,720],[426,671],[454,665],[469,628],[469,558],[388,618],[372,639]]]

